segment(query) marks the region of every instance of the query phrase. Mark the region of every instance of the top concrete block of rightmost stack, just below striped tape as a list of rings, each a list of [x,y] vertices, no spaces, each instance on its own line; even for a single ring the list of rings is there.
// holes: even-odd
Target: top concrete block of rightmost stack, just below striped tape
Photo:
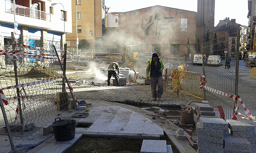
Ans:
[[[255,131],[255,126],[233,119],[227,119],[228,127],[233,131]]]

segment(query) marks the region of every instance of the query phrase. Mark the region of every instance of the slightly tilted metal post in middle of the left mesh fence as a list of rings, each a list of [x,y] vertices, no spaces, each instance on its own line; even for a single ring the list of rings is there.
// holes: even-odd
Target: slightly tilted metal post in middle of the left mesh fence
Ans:
[[[12,42],[14,42],[13,32],[12,32]],[[12,51],[13,52],[15,51],[15,44],[12,44]],[[16,85],[19,85],[18,74],[17,74],[17,61],[16,61],[16,57],[14,57],[14,56],[13,56],[13,64],[14,64],[15,83],[16,83]],[[20,113],[20,124],[23,124],[22,109],[21,109],[21,105],[20,105],[20,89],[16,88],[16,91],[17,91],[19,113]]]

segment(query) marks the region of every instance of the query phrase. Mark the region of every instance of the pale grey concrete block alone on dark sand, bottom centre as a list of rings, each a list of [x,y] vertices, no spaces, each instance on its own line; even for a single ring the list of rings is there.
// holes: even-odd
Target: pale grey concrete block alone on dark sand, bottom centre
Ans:
[[[140,153],[167,153],[166,140],[143,140]]]

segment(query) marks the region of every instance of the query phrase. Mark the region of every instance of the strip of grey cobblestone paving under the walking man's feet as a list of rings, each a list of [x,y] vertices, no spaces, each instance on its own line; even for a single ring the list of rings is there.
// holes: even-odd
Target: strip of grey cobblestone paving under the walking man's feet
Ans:
[[[73,85],[75,95],[78,99],[93,99],[112,102],[121,102],[135,105],[187,105],[191,101],[201,101],[187,94],[179,93],[174,96],[170,93],[163,94],[163,102],[160,100],[152,101],[151,86],[89,86]]]

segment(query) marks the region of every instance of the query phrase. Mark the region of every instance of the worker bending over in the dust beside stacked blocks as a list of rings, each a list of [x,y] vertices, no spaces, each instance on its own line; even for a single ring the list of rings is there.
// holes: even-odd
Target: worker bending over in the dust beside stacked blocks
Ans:
[[[110,78],[113,75],[116,79],[116,86],[121,86],[119,84],[119,65],[118,62],[112,62],[108,66],[108,86],[110,85]]]

